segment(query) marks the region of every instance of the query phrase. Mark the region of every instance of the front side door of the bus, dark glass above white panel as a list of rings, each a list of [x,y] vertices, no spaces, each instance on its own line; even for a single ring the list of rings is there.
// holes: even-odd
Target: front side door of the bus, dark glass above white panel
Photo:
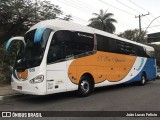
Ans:
[[[56,32],[47,55],[47,94],[67,90],[66,47],[62,35]]]

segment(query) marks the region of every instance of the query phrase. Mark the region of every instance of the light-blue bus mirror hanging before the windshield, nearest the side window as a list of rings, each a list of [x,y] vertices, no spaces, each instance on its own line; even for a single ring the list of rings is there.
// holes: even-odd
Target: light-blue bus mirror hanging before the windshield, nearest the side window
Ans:
[[[39,43],[41,41],[44,30],[45,28],[37,28],[34,35],[34,43]]]

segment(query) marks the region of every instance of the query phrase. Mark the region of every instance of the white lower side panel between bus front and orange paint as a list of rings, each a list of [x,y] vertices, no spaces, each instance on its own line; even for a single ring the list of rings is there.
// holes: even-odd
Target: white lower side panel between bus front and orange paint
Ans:
[[[47,94],[73,91],[78,85],[71,82],[68,77],[68,67],[73,60],[47,65]],[[76,69],[75,69],[76,73]]]

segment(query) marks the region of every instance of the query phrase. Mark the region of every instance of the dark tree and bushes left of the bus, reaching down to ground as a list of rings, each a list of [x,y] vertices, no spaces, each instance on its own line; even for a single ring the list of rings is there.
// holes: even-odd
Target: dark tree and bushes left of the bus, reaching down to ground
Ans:
[[[55,19],[63,15],[60,7],[50,1],[41,0],[0,0],[0,82],[10,81],[11,67],[20,43],[12,43],[10,52],[4,50],[6,41],[12,36],[21,36],[33,24]],[[71,20],[71,15],[63,15]]]

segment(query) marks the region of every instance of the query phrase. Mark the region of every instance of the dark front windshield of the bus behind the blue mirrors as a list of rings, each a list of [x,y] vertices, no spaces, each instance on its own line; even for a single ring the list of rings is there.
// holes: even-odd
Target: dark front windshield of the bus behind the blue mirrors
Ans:
[[[50,33],[51,29],[45,29],[42,36],[40,36],[41,38],[39,42],[35,42],[36,29],[26,33],[24,36],[26,47],[20,47],[14,69],[23,71],[27,68],[39,66],[43,59]]]

